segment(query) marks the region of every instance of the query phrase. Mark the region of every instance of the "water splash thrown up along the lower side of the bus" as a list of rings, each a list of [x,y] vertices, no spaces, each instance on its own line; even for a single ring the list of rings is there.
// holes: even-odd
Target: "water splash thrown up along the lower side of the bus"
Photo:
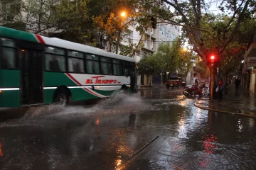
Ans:
[[[70,118],[70,116],[78,118],[88,115],[139,113],[140,111],[152,111],[154,109],[156,108],[134,94],[115,91],[110,97],[102,98],[94,106],[33,106],[28,109],[21,120],[39,116],[60,117],[61,115],[61,118]]]

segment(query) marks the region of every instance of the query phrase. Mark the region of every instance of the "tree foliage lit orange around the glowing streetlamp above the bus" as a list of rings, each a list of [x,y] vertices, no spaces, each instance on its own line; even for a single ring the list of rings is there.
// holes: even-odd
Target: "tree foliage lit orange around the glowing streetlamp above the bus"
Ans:
[[[125,33],[128,26],[133,23],[133,13],[135,11],[135,2],[137,0],[99,0],[90,1],[88,4],[90,18],[92,21],[92,36],[98,47],[103,47],[106,39],[109,41],[110,52],[118,52],[119,42],[122,41],[122,33]],[[122,17],[120,13],[125,11],[127,16]],[[115,49],[112,49],[112,42],[116,43]]]

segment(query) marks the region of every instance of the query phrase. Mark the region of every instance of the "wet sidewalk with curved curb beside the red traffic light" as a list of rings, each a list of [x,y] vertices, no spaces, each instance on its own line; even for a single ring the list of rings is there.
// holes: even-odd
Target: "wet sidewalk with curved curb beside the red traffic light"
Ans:
[[[228,94],[223,95],[222,99],[210,101],[209,97],[203,97],[194,105],[208,111],[256,118],[255,95],[245,91],[242,86],[236,91],[235,84],[228,85]]]

